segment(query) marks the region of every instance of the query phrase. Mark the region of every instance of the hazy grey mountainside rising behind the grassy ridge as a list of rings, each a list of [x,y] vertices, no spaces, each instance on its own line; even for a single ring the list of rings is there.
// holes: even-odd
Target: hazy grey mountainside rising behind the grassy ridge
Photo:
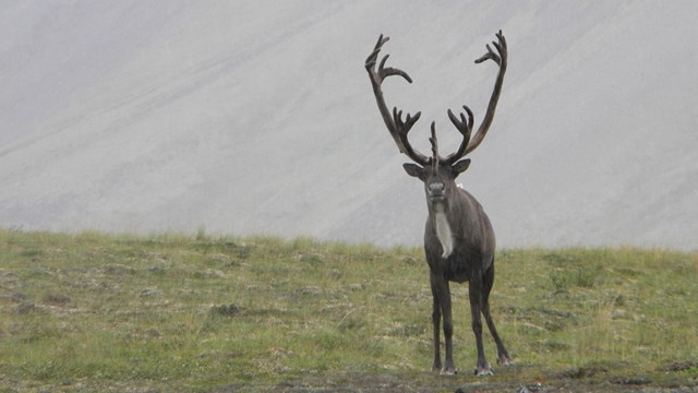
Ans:
[[[419,243],[363,69],[380,33],[414,80],[411,140],[456,148],[500,246],[698,247],[698,2],[14,1],[0,4],[0,226]]]

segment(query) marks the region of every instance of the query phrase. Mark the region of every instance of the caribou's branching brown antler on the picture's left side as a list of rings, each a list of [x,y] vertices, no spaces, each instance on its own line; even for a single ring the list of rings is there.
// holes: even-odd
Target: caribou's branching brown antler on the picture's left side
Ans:
[[[375,44],[375,48],[373,52],[369,55],[365,62],[366,71],[369,72],[369,76],[371,78],[371,85],[373,85],[373,94],[375,95],[375,100],[378,104],[378,110],[381,111],[381,116],[383,116],[383,120],[385,121],[385,126],[387,127],[390,135],[395,140],[397,147],[400,150],[400,153],[406,154],[412,160],[422,166],[429,164],[429,157],[423,155],[422,153],[416,151],[410,145],[407,133],[410,131],[412,126],[419,120],[419,117],[422,115],[421,112],[414,114],[411,116],[410,114],[406,114],[405,121],[402,121],[402,111],[397,110],[397,107],[393,108],[393,116],[390,116],[390,111],[385,105],[385,99],[383,98],[383,91],[381,90],[381,84],[383,81],[392,75],[402,76],[407,82],[412,83],[412,79],[407,74],[407,72],[395,69],[395,68],[385,68],[385,62],[388,60],[389,55],[385,55],[378,68],[376,70],[375,64],[378,59],[378,53],[383,48],[383,44],[387,43],[390,39],[389,37],[378,37],[378,41]]]

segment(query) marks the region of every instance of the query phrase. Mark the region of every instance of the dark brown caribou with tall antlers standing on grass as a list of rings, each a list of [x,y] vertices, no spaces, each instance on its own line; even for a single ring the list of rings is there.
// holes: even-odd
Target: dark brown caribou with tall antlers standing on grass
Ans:
[[[470,159],[464,159],[464,157],[476,150],[488,133],[502,93],[502,84],[507,66],[507,46],[502,31],[496,34],[496,40],[492,41],[496,51],[490,45],[486,45],[486,53],[476,60],[476,63],[492,60],[498,66],[498,74],[482,123],[471,139],[473,114],[470,108],[464,106],[465,112],[460,112],[459,116],[454,115],[448,109],[448,118],[462,135],[462,141],[455,153],[445,157],[440,155],[438,152],[435,122],[431,124],[430,142],[432,155],[426,156],[412,147],[407,138],[412,126],[419,120],[421,112],[417,112],[413,116],[406,114],[404,118],[401,110],[394,107],[390,112],[385,104],[381,85],[386,78],[397,75],[412,83],[412,79],[405,71],[386,67],[389,55],[385,55],[382,61],[377,62],[381,49],[389,38],[381,35],[373,52],[365,61],[365,69],[369,72],[373,93],[385,126],[400,153],[407,155],[413,162],[404,164],[404,168],[409,176],[419,178],[424,183],[429,211],[424,229],[424,253],[429,264],[433,296],[434,361],[432,369],[440,371],[441,374],[455,374],[457,372],[453,357],[454,327],[450,282],[468,283],[471,324],[478,347],[478,362],[474,373],[477,376],[490,376],[493,373],[482,345],[481,315],[484,317],[490,333],[496,343],[497,362],[505,366],[510,364],[509,355],[497,334],[490,314],[489,298],[494,282],[495,249],[492,224],[474,196],[461,187],[456,186],[455,182],[456,177],[468,169],[470,165]],[[440,324],[442,320],[446,347],[443,367],[440,352]]]

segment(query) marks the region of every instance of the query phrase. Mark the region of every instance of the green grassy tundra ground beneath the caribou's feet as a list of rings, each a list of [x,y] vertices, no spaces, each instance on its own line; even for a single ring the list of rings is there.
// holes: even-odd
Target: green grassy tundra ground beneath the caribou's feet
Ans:
[[[461,373],[440,378],[420,249],[0,231],[0,391],[697,389],[698,253],[501,250],[496,264],[516,366],[471,374],[454,286]]]

